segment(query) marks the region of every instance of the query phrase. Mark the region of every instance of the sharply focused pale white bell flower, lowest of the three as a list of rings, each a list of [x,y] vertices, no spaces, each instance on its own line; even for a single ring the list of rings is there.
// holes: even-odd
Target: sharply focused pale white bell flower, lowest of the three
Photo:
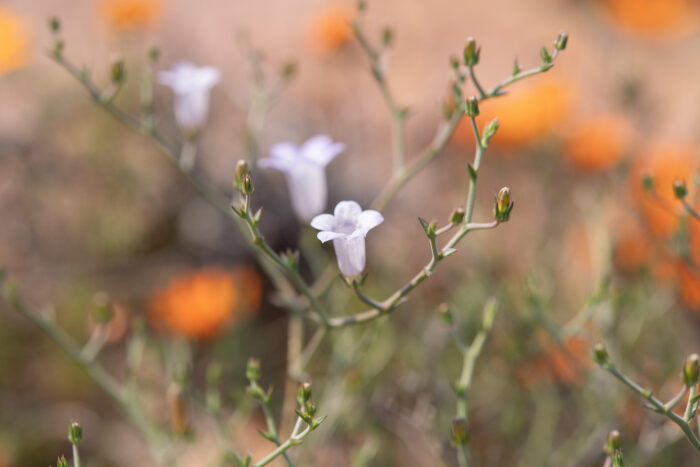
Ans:
[[[341,201],[333,214],[314,217],[311,227],[320,230],[318,239],[322,242],[333,240],[340,272],[346,277],[354,277],[365,269],[367,232],[382,222],[384,217],[377,211],[363,211],[355,201]]]

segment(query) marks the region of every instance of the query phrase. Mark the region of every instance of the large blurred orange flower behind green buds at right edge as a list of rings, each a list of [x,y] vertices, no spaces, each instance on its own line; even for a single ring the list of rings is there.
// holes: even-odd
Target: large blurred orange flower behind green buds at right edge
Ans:
[[[673,182],[677,178],[690,181],[697,166],[695,149],[677,144],[652,146],[638,158],[631,170],[632,196],[655,237],[668,238],[678,229],[681,203],[673,193]],[[653,180],[653,193],[642,186],[645,176]],[[688,191],[692,197],[692,183]]]

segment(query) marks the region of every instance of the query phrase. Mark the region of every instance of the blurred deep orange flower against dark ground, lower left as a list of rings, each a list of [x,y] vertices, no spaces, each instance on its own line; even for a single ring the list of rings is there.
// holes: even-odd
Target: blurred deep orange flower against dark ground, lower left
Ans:
[[[248,268],[209,267],[174,279],[151,300],[156,329],[191,339],[216,336],[242,314],[254,313],[262,285]]]

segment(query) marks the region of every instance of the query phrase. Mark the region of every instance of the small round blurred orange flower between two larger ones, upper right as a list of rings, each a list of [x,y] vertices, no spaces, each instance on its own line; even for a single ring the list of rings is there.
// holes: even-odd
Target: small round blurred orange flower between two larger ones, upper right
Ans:
[[[632,142],[632,126],[623,115],[602,113],[575,126],[564,140],[563,152],[571,164],[594,172],[614,167]]]

